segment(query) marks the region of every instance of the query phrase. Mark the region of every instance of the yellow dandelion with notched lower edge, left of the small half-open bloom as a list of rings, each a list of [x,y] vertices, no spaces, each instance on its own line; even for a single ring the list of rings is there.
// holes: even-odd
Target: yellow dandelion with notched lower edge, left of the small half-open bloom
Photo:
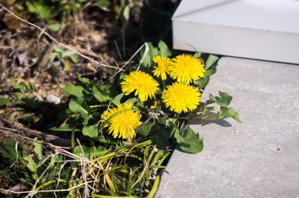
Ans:
[[[136,89],[135,95],[138,94],[138,97],[141,102],[147,100],[148,96],[152,99],[152,96],[156,99],[155,94],[159,93],[159,84],[147,73],[138,71],[131,72],[130,75],[125,76],[125,81],[121,84],[121,90],[126,92],[125,95],[133,92]]]

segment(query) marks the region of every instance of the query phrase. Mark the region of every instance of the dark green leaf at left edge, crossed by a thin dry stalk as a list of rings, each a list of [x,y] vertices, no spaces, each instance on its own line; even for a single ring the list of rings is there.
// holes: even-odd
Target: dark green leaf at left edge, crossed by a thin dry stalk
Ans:
[[[16,151],[16,142],[8,141],[3,144],[0,152],[4,154],[4,157],[12,157],[14,159],[16,159],[18,155],[19,162],[24,163],[23,148],[20,146],[20,144],[18,144],[17,150],[18,151]]]

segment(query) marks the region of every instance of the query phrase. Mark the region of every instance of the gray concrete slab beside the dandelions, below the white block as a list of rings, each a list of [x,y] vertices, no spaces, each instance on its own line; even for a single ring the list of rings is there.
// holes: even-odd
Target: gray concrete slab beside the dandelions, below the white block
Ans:
[[[177,147],[155,198],[299,197],[299,66],[232,57],[218,65],[202,101],[230,94],[243,123],[193,123],[203,151]]]

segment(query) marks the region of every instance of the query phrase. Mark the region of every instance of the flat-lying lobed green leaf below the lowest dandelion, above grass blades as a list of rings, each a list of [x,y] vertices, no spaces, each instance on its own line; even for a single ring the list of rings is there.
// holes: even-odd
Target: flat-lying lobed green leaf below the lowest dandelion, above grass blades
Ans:
[[[84,156],[88,158],[89,160],[92,160],[93,156],[90,152],[92,152],[96,157],[103,157],[105,154],[112,151],[112,148],[106,149],[103,146],[100,146],[99,148],[96,148],[95,146],[89,148],[87,146],[82,146]],[[74,149],[74,154],[80,156],[80,153],[82,153],[80,146],[76,146]]]

